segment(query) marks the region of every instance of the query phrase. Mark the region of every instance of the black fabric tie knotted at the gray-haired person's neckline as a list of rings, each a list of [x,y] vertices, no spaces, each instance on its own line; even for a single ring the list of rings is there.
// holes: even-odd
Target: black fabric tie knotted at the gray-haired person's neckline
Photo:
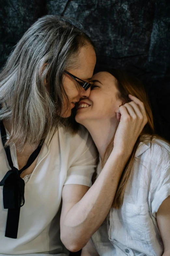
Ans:
[[[7,134],[3,124],[3,121],[0,121],[0,131],[1,131],[1,138],[2,143],[7,155],[7,160],[11,170],[7,171],[4,178],[0,181],[0,186],[3,187],[3,203],[4,209],[8,209],[7,214],[7,224],[6,224],[6,232],[5,236],[9,238],[17,238],[18,233],[18,225],[19,225],[19,218],[20,218],[20,208],[24,205],[24,187],[25,182],[20,177],[21,173],[27,169],[36,159],[38,156],[42,144],[40,143],[35,151],[29,157],[26,165],[21,169],[18,170],[14,167],[10,147],[5,147],[5,142],[7,141]]]

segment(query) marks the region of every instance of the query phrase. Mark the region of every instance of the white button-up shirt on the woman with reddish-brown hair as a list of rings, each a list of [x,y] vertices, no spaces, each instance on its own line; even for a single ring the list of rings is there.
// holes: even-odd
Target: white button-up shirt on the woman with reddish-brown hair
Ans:
[[[98,172],[100,172],[100,167]],[[161,256],[156,212],[170,195],[170,146],[140,143],[120,209],[111,208],[92,243],[102,256]]]

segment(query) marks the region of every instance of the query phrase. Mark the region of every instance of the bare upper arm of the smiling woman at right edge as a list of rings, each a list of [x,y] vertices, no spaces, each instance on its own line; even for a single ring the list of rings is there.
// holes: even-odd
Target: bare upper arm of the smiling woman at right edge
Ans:
[[[156,218],[164,245],[163,256],[170,256],[170,196],[159,207]]]

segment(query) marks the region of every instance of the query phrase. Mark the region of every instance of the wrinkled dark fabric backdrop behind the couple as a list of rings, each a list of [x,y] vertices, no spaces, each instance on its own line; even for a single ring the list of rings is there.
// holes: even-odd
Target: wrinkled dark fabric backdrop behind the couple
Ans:
[[[96,45],[96,71],[106,66],[139,77],[149,93],[156,132],[170,140],[169,0],[0,0],[0,66],[39,17],[79,21]]]

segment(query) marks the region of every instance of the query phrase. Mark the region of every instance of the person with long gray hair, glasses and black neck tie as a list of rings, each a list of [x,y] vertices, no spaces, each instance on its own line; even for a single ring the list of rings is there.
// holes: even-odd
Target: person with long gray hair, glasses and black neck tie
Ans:
[[[1,255],[63,256],[64,245],[77,251],[110,209],[147,118],[142,103],[143,118],[121,113],[119,141],[91,186],[92,139],[84,128],[71,133],[66,117],[89,96],[95,62],[82,28],[47,15],[26,31],[0,74]]]

